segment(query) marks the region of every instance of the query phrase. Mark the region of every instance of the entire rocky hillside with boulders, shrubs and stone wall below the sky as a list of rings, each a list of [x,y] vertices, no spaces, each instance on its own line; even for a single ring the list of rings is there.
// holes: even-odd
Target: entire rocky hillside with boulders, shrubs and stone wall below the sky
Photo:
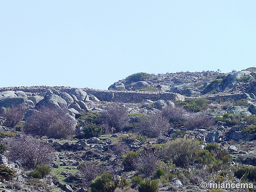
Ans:
[[[0,191],[213,192],[209,183],[255,185],[255,81],[252,67],[137,73],[108,90],[2,87]]]

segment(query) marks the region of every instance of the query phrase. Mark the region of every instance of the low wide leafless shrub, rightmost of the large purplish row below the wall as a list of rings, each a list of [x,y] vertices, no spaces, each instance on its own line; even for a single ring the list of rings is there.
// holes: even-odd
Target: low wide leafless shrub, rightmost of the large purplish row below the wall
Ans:
[[[211,127],[213,125],[213,120],[211,117],[207,116],[204,112],[201,113],[191,113],[188,121],[184,124],[184,127],[188,130],[193,130],[195,128],[201,127]]]

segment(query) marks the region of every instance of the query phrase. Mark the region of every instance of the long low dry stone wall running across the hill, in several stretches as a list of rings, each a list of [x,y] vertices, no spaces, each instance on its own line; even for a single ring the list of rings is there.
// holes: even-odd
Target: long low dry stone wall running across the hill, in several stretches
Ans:
[[[44,94],[46,90],[51,89],[53,93],[60,94],[60,92],[69,92],[72,87],[64,86],[31,86],[31,87],[1,87],[2,91],[24,91],[30,93]],[[82,88],[87,94],[96,96],[102,101],[124,102],[124,103],[140,103],[144,99],[148,100],[185,100],[185,97],[179,93],[172,92],[138,92],[138,91],[115,91],[115,90],[99,90],[91,88]],[[248,98],[247,93],[233,93],[233,94],[216,94],[205,96],[206,99],[215,100],[241,100]]]

